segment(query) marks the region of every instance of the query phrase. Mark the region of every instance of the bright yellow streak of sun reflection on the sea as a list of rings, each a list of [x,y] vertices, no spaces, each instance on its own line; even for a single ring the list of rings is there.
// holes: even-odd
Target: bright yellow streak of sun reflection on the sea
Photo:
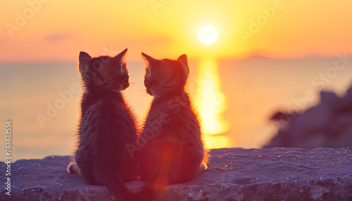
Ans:
[[[195,103],[201,116],[203,140],[206,148],[225,148],[230,145],[229,138],[223,133],[230,129],[230,123],[224,118],[226,97],[221,92],[218,65],[213,59],[204,59],[199,63]]]

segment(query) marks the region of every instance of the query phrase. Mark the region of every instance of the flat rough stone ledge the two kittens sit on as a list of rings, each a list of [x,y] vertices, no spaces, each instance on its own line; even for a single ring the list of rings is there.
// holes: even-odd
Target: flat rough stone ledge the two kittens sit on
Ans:
[[[227,148],[210,155],[203,174],[169,186],[161,200],[352,200],[352,148]],[[113,200],[106,188],[68,174],[69,160],[51,156],[11,164],[11,197],[1,188],[1,200]],[[0,167],[5,172],[4,162]],[[0,181],[6,181],[4,174]],[[142,184],[127,186],[137,190]]]

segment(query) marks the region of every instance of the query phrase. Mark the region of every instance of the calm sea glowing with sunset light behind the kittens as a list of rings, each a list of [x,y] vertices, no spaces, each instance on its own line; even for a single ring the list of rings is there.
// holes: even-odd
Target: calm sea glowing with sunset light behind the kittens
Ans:
[[[191,60],[189,92],[203,119],[208,148],[260,148],[275,135],[268,118],[276,110],[314,105],[320,89],[343,96],[352,84],[352,61],[334,70],[336,60]],[[144,65],[127,67],[131,84],[124,93],[142,122],[151,102]],[[0,70],[0,128],[4,131],[6,119],[13,121],[13,158],[72,154],[82,93],[77,64],[1,64]],[[309,90],[313,100],[302,101]]]

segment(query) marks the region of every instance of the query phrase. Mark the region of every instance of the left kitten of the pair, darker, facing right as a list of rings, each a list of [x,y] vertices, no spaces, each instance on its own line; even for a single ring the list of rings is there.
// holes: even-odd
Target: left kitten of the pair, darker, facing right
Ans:
[[[79,71],[84,86],[75,162],[68,171],[90,185],[106,186],[115,197],[130,196],[125,181],[134,180],[137,160],[126,144],[136,144],[136,120],[120,91],[130,84],[123,57],[92,58],[80,53]]]

